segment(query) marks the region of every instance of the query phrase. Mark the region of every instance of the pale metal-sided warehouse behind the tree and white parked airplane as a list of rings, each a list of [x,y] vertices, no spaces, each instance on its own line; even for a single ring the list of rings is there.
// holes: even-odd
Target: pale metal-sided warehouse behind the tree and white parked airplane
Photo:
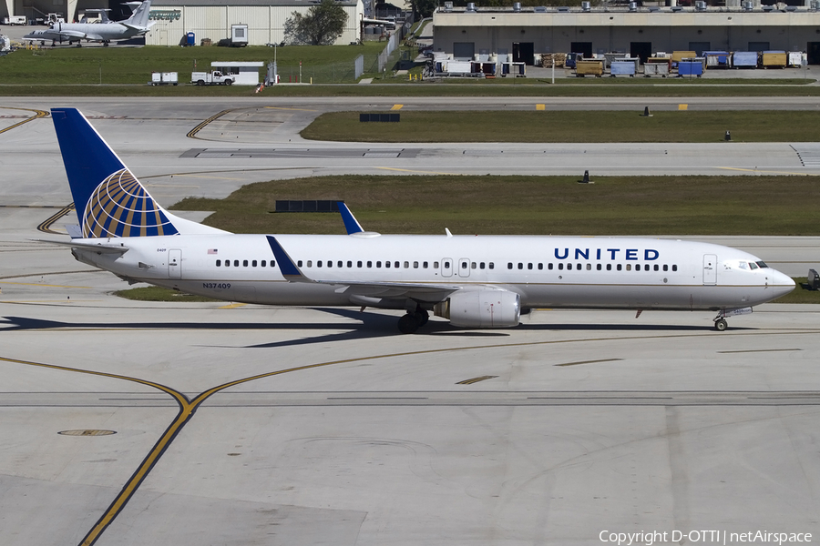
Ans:
[[[364,16],[362,0],[336,0],[347,12],[347,26],[336,44],[359,39],[359,21]],[[146,36],[146,45],[179,45],[189,32],[196,43],[210,38],[214,45],[231,37],[231,25],[248,25],[248,44],[279,44],[285,21],[292,12],[307,13],[310,0],[153,0],[150,18],[156,21]]]

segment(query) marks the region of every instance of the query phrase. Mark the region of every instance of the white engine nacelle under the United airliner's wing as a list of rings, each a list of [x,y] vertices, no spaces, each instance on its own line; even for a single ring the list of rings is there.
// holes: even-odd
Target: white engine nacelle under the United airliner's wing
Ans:
[[[437,303],[436,317],[464,328],[510,328],[521,318],[521,298],[507,290],[459,290]]]

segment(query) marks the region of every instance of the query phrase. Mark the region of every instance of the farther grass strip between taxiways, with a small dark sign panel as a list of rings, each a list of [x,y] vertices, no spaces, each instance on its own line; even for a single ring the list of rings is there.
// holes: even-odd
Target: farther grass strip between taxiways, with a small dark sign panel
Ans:
[[[820,141],[810,111],[472,111],[401,112],[399,123],[361,123],[358,112],[317,117],[313,140],[364,142],[736,142]],[[731,146],[731,145],[728,145]],[[731,153],[727,147],[727,153]]]

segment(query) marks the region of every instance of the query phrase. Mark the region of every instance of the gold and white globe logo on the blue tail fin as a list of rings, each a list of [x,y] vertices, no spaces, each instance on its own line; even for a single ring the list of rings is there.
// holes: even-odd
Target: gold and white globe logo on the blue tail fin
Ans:
[[[91,193],[83,214],[85,238],[176,235],[163,210],[127,168],[108,176]]]

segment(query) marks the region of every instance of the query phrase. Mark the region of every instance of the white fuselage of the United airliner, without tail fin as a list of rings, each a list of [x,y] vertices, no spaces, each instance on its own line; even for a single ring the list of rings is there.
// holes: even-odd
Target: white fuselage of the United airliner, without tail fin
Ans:
[[[272,248],[264,235],[82,239],[122,242],[129,250],[121,256],[84,248],[75,252],[82,261],[123,278],[273,305],[358,305],[364,297],[390,307],[389,288],[367,292],[349,286],[381,282],[499,288],[518,293],[525,309],[718,310],[748,308],[794,288],[783,273],[759,267],[760,258],[690,241],[367,233],[274,237],[304,277],[321,282],[283,278],[278,265],[272,265]],[[423,296],[416,299],[435,303]]]

